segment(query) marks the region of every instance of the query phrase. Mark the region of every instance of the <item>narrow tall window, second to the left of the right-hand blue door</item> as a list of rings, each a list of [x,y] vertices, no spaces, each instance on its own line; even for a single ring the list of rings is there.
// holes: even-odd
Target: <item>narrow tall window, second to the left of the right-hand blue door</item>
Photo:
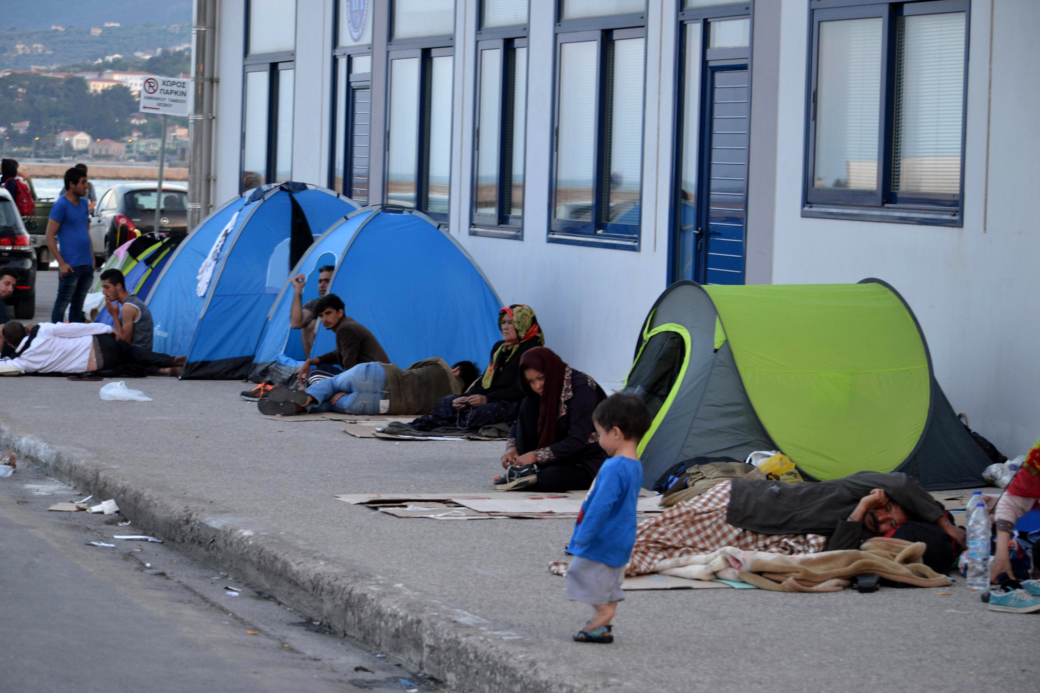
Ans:
[[[476,45],[475,236],[522,238],[527,122],[526,0],[484,0]]]

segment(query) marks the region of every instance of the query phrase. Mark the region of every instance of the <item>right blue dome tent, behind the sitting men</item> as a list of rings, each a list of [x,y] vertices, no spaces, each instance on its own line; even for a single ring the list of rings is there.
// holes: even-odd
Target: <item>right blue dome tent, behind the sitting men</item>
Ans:
[[[304,301],[317,295],[311,276],[327,264],[336,264],[329,293],[395,364],[440,356],[479,366],[500,339],[495,320],[502,302],[494,289],[462,246],[419,212],[364,208],[332,226],[293,272],[308,274]],[[289,329],[291,301],[286,286],[257,346],[254,381],[280,355],[303,358],[298,332]],[[311,355],[335,348],[335,335],[318,325]]]

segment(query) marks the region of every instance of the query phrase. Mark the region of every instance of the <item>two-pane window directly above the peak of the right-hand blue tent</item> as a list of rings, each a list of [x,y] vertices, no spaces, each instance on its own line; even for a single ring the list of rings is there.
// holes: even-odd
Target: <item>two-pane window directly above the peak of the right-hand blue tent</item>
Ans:
[[[390,53],[387,203],[447,220],[451,177],[450,48]]]

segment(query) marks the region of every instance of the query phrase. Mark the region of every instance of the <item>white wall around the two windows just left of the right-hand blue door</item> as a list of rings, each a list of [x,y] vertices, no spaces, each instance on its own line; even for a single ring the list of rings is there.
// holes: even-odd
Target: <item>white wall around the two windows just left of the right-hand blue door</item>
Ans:
[[[538,314],[546,346],[604,388],[619,387],[631,366],[647,312],[664,291],[668,261],[668,192],[675,0],[651,2],[647,18],[646,111],[643,159],[642,248],[590,248],[546,240],[552,162],[554,0],[530,0],[528,23],[527,154],[523,240],[469,235],[475,98],[477,0],[457,5],[456,92],[450,232],[473,256],[506,304],[527,303]],[[658,123],[665,156],[657,157]],[[658,174],[662,177],[658,180]],[[491,317],[490,319],[494,319]]]

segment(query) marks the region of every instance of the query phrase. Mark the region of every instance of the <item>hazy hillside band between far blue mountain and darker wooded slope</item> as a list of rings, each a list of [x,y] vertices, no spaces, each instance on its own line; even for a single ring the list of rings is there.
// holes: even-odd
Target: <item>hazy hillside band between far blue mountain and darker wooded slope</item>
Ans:
[[[7,21],[3,16],[5,14],[0,14],[0,22]],[[102,24],[103,22],[99,22],[94,26]],[[133,58],[133,54],[138,51],[154,51],[157,48],[191,43],[190,22],[124,24],[100,28],[101,33],[98,35],[93,35],[89,27],[74,26],[66,27],[64,31],[50,28],[0,31],[0,69],[29,70],[32,65],[50,68],[92,63],[110,55]]]

